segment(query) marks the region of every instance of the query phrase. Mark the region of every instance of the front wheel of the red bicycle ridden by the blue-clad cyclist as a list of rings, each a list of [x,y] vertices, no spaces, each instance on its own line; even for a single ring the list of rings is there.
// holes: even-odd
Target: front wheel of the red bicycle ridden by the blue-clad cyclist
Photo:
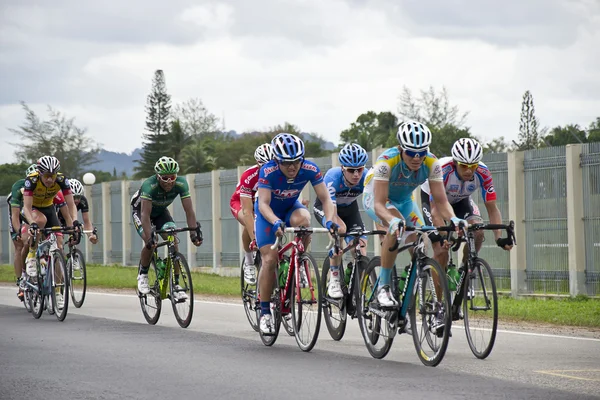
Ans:
[[[317,262],[308,253],[298,255],[297,267],[294,271],[295,278],[300,276],[302,268],[306,272],[308,284],[305,288],[296,287],[295,282],[292,284],[292,326],[298,347],[302,351],[311,351],[317,343],[321,328],[321,276]]]

